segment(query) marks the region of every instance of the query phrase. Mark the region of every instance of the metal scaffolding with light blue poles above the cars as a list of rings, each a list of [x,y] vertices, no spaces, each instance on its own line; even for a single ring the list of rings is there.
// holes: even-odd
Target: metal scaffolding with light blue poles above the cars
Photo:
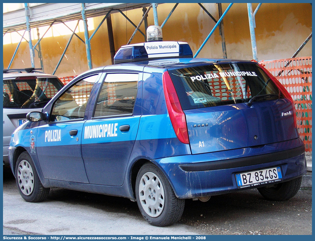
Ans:
[[[169,15],[166,17],[166,19],[163,21],[161,28],[163,28],[166,24],[166,22],[171,17],[172,13],[175,11],[176,7],[179,3],[176,3],[173,9],[171,9]],[[207,9],[204,8],[204,6],[201,3],[198,3],[199,6],[205,11],[207,15],[215,22],[215,26],[210,31],[207,38],[204,40],[203,44],[200,46],[194,57],[197,57],[199,52],[202,50],[203,46],[207,43],[213,32],[217,27],[219,27],[219,33],[221,35],[221,41],[222,41],[222,52],[223,52],[223,58],[227,58],[226,53],[226,44],[225,44],[225,37],[224,37],[224,27],[223,27],[223,18],[226,16],[229,9],[232,7],[233,3],[230,3],[229,6],[226,8],[226,10],[222,13],[222,5],[221,3],[218,3],[218,13],[219,13],[219,20],[217,21],[209,12]],[[113,31],[112,31],[112,21],[111,21],[111,14],[112,13],[120,13],[123,15],[126,20],[129,21],[131,25],[135,27],[135,31],[130,37],[127,44],[130,44],[132,39],[134,38],[136,32],[140,32],[144,36],[144,41],[146,41],[146,33],[142,32],[140,30],[140,26],[144,22],[145,29],[147,28],[147,16],[148,12],[152,9],[153,11],[153,18],[154,18],[154,24],[158,25],[158,14],[157,14],[157,3],[43,3],[36,6],[29,6],[28,3],[24,3],[25,8],[19,9],[13,12],[3,13],[3,36],[8,32],[17,32],[18,30],[25,30],[23,35],[21,35],[21,40],[17,45],[17,48],[13,54],[13,57],[9,63],[8,68],[11,67],[12,62],[14,60],[14,57],[16,56],[16,53],[18,51],[18,48],[20,47],[20,44],[24,38],[25,32],[28,33],[29,39],[31,39],[31,28],[38,28],[39,26],[49,26],[49,28],[54,23],[63,23],[65,24],[66,21],[70,20],[77,20],[77,25],[75,29],[71,30],[66,24],[67,28],[69,28],[72,31],[72,34],[68,40],[68,43],[66,44],[66,47],[60,57],[60,60],[54,69],[53,74],[57,71],[58,67],[60,66],[60,63],[65,56],[66,50],[73,38],[73,36],[76,36],[79,38],[84,44],[86,49],[86,56],[87,56],[87,63],[88,68],[93,68],[92,64],[92,58],[91,58],[91,44],[90,41],[95,35],[95,33],[99,30],[100,26],[104,23],[106,20],[107,22],[107,29],[108,29],[108,36],[109,36],[109,46],[110,46],[110,53],[111,58],[113,62],[113,56],[115,55],[115,45],[114,45],[114,38],[113,38]],[[250,37],[251,37],[251,43],[252,43],[252,50],[253,50],[253,59],[258,61],[257,57],[257,46],[256,46],[256,38],[255,38],[255,15],[260,8],[261,3],[257,6],[254,13],[252,11],[252,4],[247,3],[248,8],[248,16],[249,16],[249,28],[250,28]],[[131,9],[139,9],[142,8],[143,10],[143,16],[140,20],[138,25],[135,25],[124,13],[123,11],[131,10]],[[96,17],[96,16],[104,16],[103,20],[100,22],[100,24],[96,27],[95,31],[89,36],[88,26],[87,26],[87,18],[89,17]],[[84,40],[80,38],[76,33],[76,28],[79,24],[79,21],[83,21],[84,26]],[[48,29],[49,29],[48,28]],[[44,33],[44,35],[48,32],[48,30]],[[39,38],[39,33],[37,30],[37,36],[38,41],[33,46],[32,41],[27,41],[29,44],[29,50],[30,50],[30,57],[31,57],[31,65],[33,68],[35,68],[35,62],[34,62],[34,51],[36,50],[38,52],[38,56],[41,60],[41,67],[43,69],[43,60],[42,60],[42,54],[41,54],[41,46],[40,42],[43,39],[43,36]],[[311,38],[312,34],[309,36],[307,41]],[[304,42],[304,44],[301,45],[298,51],[301,50],[301,48],[307,43]],[[38,46],[38,50],[36,47]]]

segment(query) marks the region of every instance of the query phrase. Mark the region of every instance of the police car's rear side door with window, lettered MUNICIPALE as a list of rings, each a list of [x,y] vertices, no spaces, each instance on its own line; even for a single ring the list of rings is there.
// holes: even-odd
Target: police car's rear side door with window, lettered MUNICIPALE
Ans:
[[[123,185],[141,116],[142,73],[107,73],[82,133],[91,184]],[[138,104],[137,104],[138,103]]]

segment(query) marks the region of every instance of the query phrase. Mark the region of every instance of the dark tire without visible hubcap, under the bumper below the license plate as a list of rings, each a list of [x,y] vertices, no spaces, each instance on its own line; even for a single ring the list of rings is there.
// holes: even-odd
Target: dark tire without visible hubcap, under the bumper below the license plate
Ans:
[[[260,187],[257,190],[268,200],[285,201],[295,196],[301,187],[301,183],[302,177],[298,177],[276,185]]]

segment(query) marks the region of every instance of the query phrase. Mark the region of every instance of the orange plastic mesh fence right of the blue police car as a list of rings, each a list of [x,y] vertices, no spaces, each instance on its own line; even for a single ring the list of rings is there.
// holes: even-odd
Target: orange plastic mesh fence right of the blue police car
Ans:
[[[305,151],[312,152],[312,57],[259,62],[289,91]]]

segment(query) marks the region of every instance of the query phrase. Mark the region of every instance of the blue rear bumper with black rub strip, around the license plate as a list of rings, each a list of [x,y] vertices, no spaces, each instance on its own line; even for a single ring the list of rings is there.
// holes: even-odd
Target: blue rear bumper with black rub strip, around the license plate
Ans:
[[[300,138],[261,148],[176,156],[154,162],[164,171],[180,199],[238,191],[240,188],[235,174],[247,171],[280,167],[281,182],[306,174],[304,145]],[[263,185],[247,186],[243,189],[260,186]]]

